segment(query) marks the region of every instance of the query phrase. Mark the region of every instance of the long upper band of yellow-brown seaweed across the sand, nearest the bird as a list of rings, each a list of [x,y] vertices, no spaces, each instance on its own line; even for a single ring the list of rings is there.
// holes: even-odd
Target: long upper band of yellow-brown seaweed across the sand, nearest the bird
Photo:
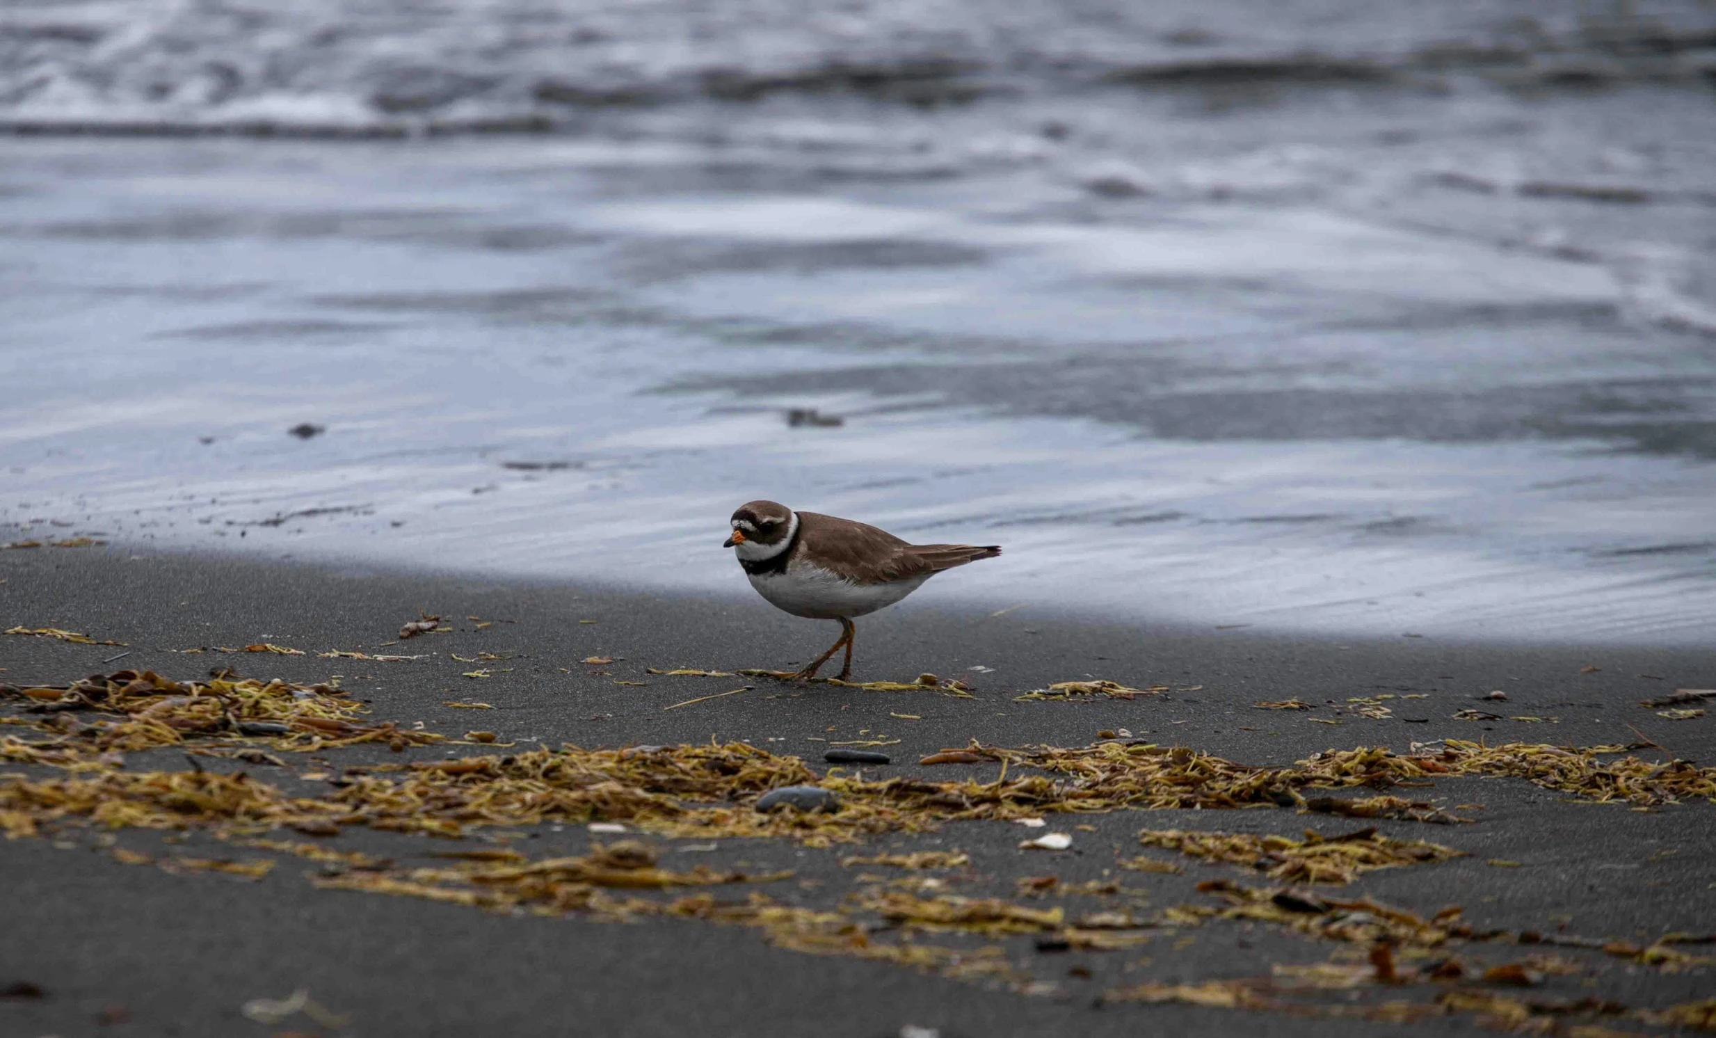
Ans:
[[[971,743],[925,758],[999,763],[1000,774],[987,782],[909,775],[865,779],[839,769],[819,777],[796,757],[777,757],[748,743],[623,750],[568,745],[408,765],[348,767],[326,794],[293,798],[242,774],[124,772],[124,751],[182,746],[220,753],[220,746],[256,745],[309,751],[364,743],[403,750],[439,743],[444,736],[420,726],[366,724],[360,715],[367,709],[338,688],[278,679],[216,676],[170,681],[151,671],[118,671],[65,688],[12,693],[29,707],[24,719],[9,721],[24,721],[50,738],[0,739],[0,758],[58,765],[84,777],[0,784],[0,810],[9,832],[31,832],[43,822],[82,817],[110,827],[295,827],[336,832],[341,825],[367,825],[455,837],[472,827],[606,820],[630,822],[664,836],[774,836],[829,846],[885,832],[925,832],[954,820],[1019,820],[1124,808],[1285,806],[1364,818],[1457,822],[1428,801],[1390,794],[1306,796],[1313,789],[1428,786],[1441,775],[1520,777],[1584,800],[1637,806],[1716,800],[1716,769],[1616,757],[1625,746],[1574,750],[1450,741],[1438,753],[1407,757],[1371,746],[1328,750],[1287,767],[1254,767],[1184,746],[1112,739],[1081,748],[1021,750]],[[77,721],[76,714],[96,719]],[[33,715],[39,721],[31,721]],[[1024,774],[1009,777],[1009,770]],[[820,788],[837,810],[753,810],[758,796],[791,786]],[[1347,846],[1254,848],[1248,842],[1253,837],[1227,839],[1227,844],[1217,846],[1211,842],[1217,837],[1205,836],[1184,849],[1224,860],[1275,856],[1270,870],[1280,878],[1356,875],[1392,861],[1390,854],[1397,851],[1405,853],[1375,837],[1349,841]],[[1412,853],[1447,851],[1429,848],[1435,844],[1421,844]],[[1318,865],[1335,860],[1345,865],[1333,872]]]

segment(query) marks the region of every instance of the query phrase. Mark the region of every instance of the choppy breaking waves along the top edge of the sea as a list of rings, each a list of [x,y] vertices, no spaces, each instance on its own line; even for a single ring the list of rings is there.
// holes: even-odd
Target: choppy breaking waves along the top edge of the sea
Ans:
[[[88,0],[0,10],[14,132],[577,130],[686,101],[937,108],[1078,89],[1716,84],[1707,5],[1488,0]]]

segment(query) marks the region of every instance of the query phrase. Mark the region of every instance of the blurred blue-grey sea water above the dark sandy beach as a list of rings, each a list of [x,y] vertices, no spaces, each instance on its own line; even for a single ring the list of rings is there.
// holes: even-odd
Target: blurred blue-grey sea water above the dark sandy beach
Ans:
[[[12,0],[0,130],[27,535],[1713,633],[1711,3]]]

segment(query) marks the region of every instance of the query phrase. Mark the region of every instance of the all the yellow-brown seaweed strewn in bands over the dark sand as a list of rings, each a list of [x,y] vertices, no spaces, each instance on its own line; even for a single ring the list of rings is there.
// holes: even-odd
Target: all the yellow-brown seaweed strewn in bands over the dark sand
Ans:
[[[1100,688],[1067,691],[1109,693]],[[796,757],[774,755],[740,741],[619,750],[566,745],[558,750],[343,769],[317,760],[317,769],[338,774],[317,770],[299,775],[319,784],[305,794],[293,794],[285,782],[245,772],[216,774],[199,767],[196,758],[192,770],[127,770],[127,760],[139,758],[125,755],[172,748],[280,765],[285,762],[263,753],[263,748],[292,753],[350,746],[403,750],[448,739],[420,724],[371,722],[367,709],[333,685],[240,679],[230,673],[202,681],[170,681],[149,671],[118,671],[63,688],[0,686],[0,693],[22,703],[22,712],[3,721],[33,736],[0,739],[0,758],[58,769],[48,777],[0,777],[0,829],[9,837],[60,834],[74,825],[108,830],[199,829],[235,846],[316,861],[319,872],[311,882],[329,890],[420,897],[499,913],[578,913],[604,921],[688,918],[738,925],[793,950],[887,961],[1026,992],[1042,992],[1047,981],[1035,980],[1030,968],[1009,961],[1007,949],[997,942],[1026,937],[1038,952],[1107,952],[1136,947],[1155,933],[1175,928],[1236,921],[1363,949],[1356,954],[1368,952],[1371,964],[1284,964],[1266,978],[1146,983],[1107,997],[1388,1021],[1476,1012],[1481,1023],[1522,1031],[1620,1016],[1689,1028],[1711,1028],[1716,1019],[1716,1005],[1704,1004],[1628,1011],[1591,999],[1553,1002],[1498,995],[1471,985],[1514,983],[1507,980],[1514,973],[1496,973],[1507,964],[1469,968],[1448,950],[1483,942],[1567,944],[1661,971],[1711,964],[1680,950],[1673,937],[1639,947],[1477,930],[1462,920],[1459,908],[1424,918],[1369,897],[1335,899],[1296,887],[1349,884],[1380,868],[1433,865],[1462,856],[1453,848],[1385,837],[1376,829],[1344,836],[1306,830],[1302,839],[1146,829],[1139,834],[1146,848],[1249,866],[1292,885],[1253,889],[1211,880],[1198,884],[1198,890],[1215,897],[1215,904],[1177,904],[1153,913],[1145,902],[1126,909],[1110,904],[1079,918],[1069,918],[1059,906],[1035,908],[1006,897],[946,892],[949,884],[985,878],[959,851],[848,854],[841,860],[848,866],[964,872],[892,882],[856,875],[856,889],[844,901],[832,908],[808,908],[762,892],[743,899],[710,892],[726,885],[779,882],[791,873],[704,866],[671,870],[661,865],[652,848],[630,841],[592,846],[578,856],[534,861],[518,851],[487,846],[436,854],[450,863],[432,868],[407,868],[319,842],[278,839],[283,830],[333,837],[347,827],[458,839],[496,827],[599,824],[597,829],[618,829],[616,824],[623,824],[664,837],[777,837],[807,848],[829,848],[884,834],[928,832],[959,820],[1042,825],[1045,815],[1148,808],[1287,808],[1361,818],[1459,822],[1429,801],[1385,793],[1457,775],[1524,779],[1579,800],[1646,810],[1695,798],[1716,800],[1716,769],[1678,760],[1653,763],[1630,755],[1632,746],[1448,741],[1440,750],[1414,746],[1411,755],[1361,746],[1314,753],[1290,765],[1256,767],[1138,739],[1105,739],[1078,748],[997,748],[973,741],[921,763],[994,763],[999,774],[987,781],[930,781],[911,775],[867,779],[843,769],[819,774]],[[764,794],[807,786],[819,794],[817,808],[758,810]],[[1366,794],[1332,796],[1340,791]],[[1069,842],[1066,834],[1048,836],[1062,837],[1054,848]],[[1036,841],[1033,846],[1050,844]],[[124,848],[112,848],[110,853],[125,863],[247,880],[261,880],[275,866],[273,860],[154,858]],[[1114,865],[1177,872],[1146,858],[1115,858]],[[704,890],[673,896],[688,887]],[[1057,877],[1028,877],[1016,885],[1016,892],[1026,897],[1050,890],[1097,897],[1139,894],[1124,890],[1114,880],[1060,884]],[[1397,950],[1402,959],[1417,964],[1397,964]],[[1531,978],[1538,968],[1519,969],[1519,976]],[[1301,999],[1320,988],[1393,992],[1411,983],[1450,987],[1421,1002],[1392,999],[1332,1005]]]

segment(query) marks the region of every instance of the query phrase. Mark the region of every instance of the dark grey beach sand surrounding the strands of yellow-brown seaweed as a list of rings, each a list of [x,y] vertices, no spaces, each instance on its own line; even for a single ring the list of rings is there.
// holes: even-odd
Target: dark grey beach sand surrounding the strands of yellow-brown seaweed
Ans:
[[[1604,649],[1580,645],[1450,645],[1428,638],[1311,642],[1249,630],[1187,631],[1114,626],[1043,616],[1033,607],[1004,614],[937,607],[934,590],[916,602],[860,621],[856,679],[909,681],[920,673],[958,676],[978,698],[934,691],[860,691],[769,679],[668,678],[645,667],[781,667],[803,662],[834,638],[832,623],[776,613],[762,600],[642,597],[587,587],[492,585],[467,578],[400,576],[292,564],[137,556],[125,549],[33,549],[0,552],[0,628],[69,628],[125,647],[76,645],[39,637],[0,637],[0,681],[67,683],[117,667],[194,678],[232,666],[245,676],[323,681],[341,674],[352,695],[371,700],[378,719],[422,721],[460,734],[492,729],[503,741],[558,746],[748,741],[772,753],[800,755],[819,770],[829,741],[873,739],[894,765],[867,774],[934,779],[992,779],[994,765],[920,767],[918,757],[970,739],[1019,746],[1083,746],[1098,731],[1186,745],[1244,763],[1287,763],[1325,748],[1483,738],[1589,746],[1659,743],[1673,757],[1709,762],[1716,717],[1670,721],[1640,700],[1675,688],[1716,685],[1716,652]],[[734,571],[734,583],[740,575]],[[1148,595],[1148,588],[1139,588]],[[379,652],[429,654],[414,662],[319,659],[331,649],[378,652],[419,609],[443,616],[451,635],[426,635]],[[467,619],[477,616],[480,621]],[[582,623],[594,621],[594,623]],[[479,623],[491,626],[479,628]],[[307,655],[192,654],[175,650],[273,642]],[[479,652],[477,664],[451,659]],[[125,654],[122,659],[112,659]],[[611,666],[583,664],[613,657]],[[103,662],[112,661],[112,662]],[[975,671],[973,667],[990,667]],[[1598,667],[1589,671],[1587,667]],[[1131,702],[1014,702],[1052,681],[1107,678],[1131,686],[1162,683],[1175,691]],[[642,685],[623,685],[642,683]],[[752,683],[750,691],[686,707],[673,703]],[[1503,690],[1505,702],[1477,700]],[[1380,700],[1390,717],[1359,715],[1350,698]],[[1404,698],[1404,697],[1424,698]],[[1311,712],[1266,712],[1256,700],[1297,697]],[[480,700],[494,710],[458,710],[444,700]],[[1332,702],[1330,702],[1332,700]],[[1455,721],[1465,707],[1502,721]],[[1338,709],[1338,712],[1337,712]],[[0,712],[12,714],[14,707]],[[901,717],[901,715],[911,717]],[[1512,721],[1539,717],[1541,721]],[[1338,721],[1338,726],[1325,724]],[[897,739],[897,741],[896,741]],[[470,748],[384,748],[340,751],[340,763],[424,760]],[[1659,750],[1640,755],[1666,760]],[[182,755],[142,755],[132,769],[184,769]],[[204,767],[230,762],[202,758]],[[317,765],[293,758],[290,772]],[[5,767],[14,774],[45,769]],[[302,786],[316,781],[252,769],[257,777]],[[1713,806],[1668,805],[1659,812],[1625,805],[1572,803],[1563,794],[1514,779],[1441,781],[1407,791],[1448,808],[1471,825],[1381,822],[1385,834],[1429,839],[1465,851],[1440,865],[1369,873],[1335,897],[1373,897],[1429,916],[1459,904],[1479,928],[1616,938],[1649,944],[1666,932],[1716,930],[1716,868],[1709,865]],[[1088,825],[1090,829],[1079,829]],[[1167,851],[1181,875],[1114,872],[1117,856],[1143,853],[1139,829],[1208,829],[1323,834],[1363,825],[1349,818],[1287,810],[1117,812],[1050,817],[1048,829],[970,822],[928,836],[891,836],[863,848],[961,849],[971,866],[947,877],[947,890],[1002,896],[1033,908],[1062,906],[1069,916],[1133,904],[1158,911],[1208,902],[1193,887],[1230,878],[1266,884],[1234,866],[1205,866]],[[1021,851],[1018,841],[1060,829],[1074,837],[1062,853]],[[861,868],[843,868],[853,848],[803,849],[782,841],[697,841],[644,837],[668,868],[705,863],[748,872],[793,870],[765,887],[716,889],[743,899],[752,890],[791,904],[832,906]],[[1350,945],[1316,942],[1277,926],[1208,921],[1160,930],[1148,944],[1117,952],[1040,952],[1031,937],[1002,940],[1007,957],[1036,980],[1035,995],[983,983],[923,976],[855,957],[820,957],[770,947],[760,932],[700,921],[649,920],[631,925],[587,918],[501,916],[410,897],[317,890],[304,873],[314,865],[281,856],[259,882],[225,875],[168,875],[115,863],[94,834],[14,839],[0,846],[0,988],[39,985],[43,999],[0,999],[3,1035],[897,1035],[904,1024],[947,1035],[1138,1035],[1157,1028],[1229,1033],[1376,1031],[1385,1024],[1268,1016],[1181,1004],[1102,1004],[1105,990],[1141,981],[1196,983],[1268,976],[1272,964],[1323,963]],[[158,853],[156,834],[125,830],[124,848]],[[340,849],[383,853],[431,865],[432,851],[465,844],[400,834],[347,830],[326,841]],[[582,853],[590,836],[578,825],[537,827],[522,846],[535,856]],[[192,834],[178,854],[232,854]],[[244,853],[240,858],[261,856]],[[1517,863],[1495,866],[1491,860]],[[904,873],[901,873],[904,875]],[[1115,878],[1129,892],[1110,897],[1014,894],[1014,880],[1057,875],[1062,884]],[[889,878],[894,878],[892,875]],[[958,938],[954,940],[954,944]],[[1692,954],[1716,947],[1678,945]],[[1596,950],[1471,944],[1467,963],[1500,964],[1556,952],[1577,963],[1546,976],[1532,999],[1599,997],[1628,1007],[1665,1007],[1709,997],[1716,971],[1670,973]],[[1363,952],[1363,949],[1361,949]],[[1361,954],[1363,957],[1363,954]],[[1433,985],[1399,997],[1426,1002]],[[350,1017],[343,1031],[293,1016],[273,1026],[245,1019],[251,999],[280,999],[307,988],[316,1002]],[[1515,992],[1517,993],[1517,992]],[[1338,1000],[1338,993],[1335,995]],[[1326,1002],[1326,999],[1325,999]],[[98,1024],[98,1016],[122,1007]],[[1574,1024],[1594,1023],[1575,1019]],[[1417,1024],[1474,1029],[1471,1014]],[[1659,1031],[1615,1021],[1632,1031]]]

